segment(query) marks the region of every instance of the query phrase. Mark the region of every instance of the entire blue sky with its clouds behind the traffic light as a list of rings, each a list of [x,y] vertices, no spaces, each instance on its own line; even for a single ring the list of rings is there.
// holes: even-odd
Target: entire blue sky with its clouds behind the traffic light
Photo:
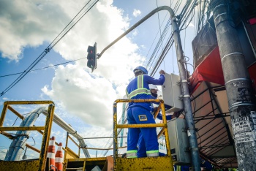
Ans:
[[[86,2],[81,0],[1,1],[0,76],[23,72]],[[125,88],[133,77],[132,69],[138,65],[147,64],[159,39],[159,24],[162,25],[163,30],[169,15],[165,11],[159,12],[159,16],[155,14],[127,37],[110,47],[97,61],[98,66],[93,73],[86,67],[87,47],[97,42],[98,53],[100,53],[130,26],[155,9],[157,4],[170,6],[170,3],[175,4],[175,2],[99,1],[34,67],[40,70],[29,72],[17,85],[0,97],[0,107],[2,108],[3,102],[7,100],[52,100],[56,104],[56,113],[78,130],[83,137],[110,136],[112,104],[115,99],[121,99],[124,96]],[[183,6],[184,1],[178,11]],[[170,34],[171,28],[167,35]],[[192,64],[193,37],[195,37],[194,26],[190,23],[186,32],[181,31],[181,42],[185,47],[185,55],[190,58],[190,64]],[[186,41],[184,41],[185,38]],[[166,39],[163,45],[165,42]],[[80,58],[84,59],[41,69]],[[165,69],[167,73],[174,71],[178,75],[175,50],[169,51],[159,69]],[[189,70],[192,72],[192,69]],[[158,76],[158,74],[155,75],[155,77]],[[4,91],[17,77],[18,75],[0,77],[0,91]],[[18,107],[20,113],[29,113],[33,109],[31,106]],[[10,116],[8,119],[7,123],[12,124],[15,116]],[[41,124],[43,121],[44,116],[37,123]],[[7,123],[4,124],[7,125]],[[53,124],[51,134],[64,142],[66,133],[56,124]],[[35,139],[40,142],[39,136],[35,136]],[[89,147],[103,148],[107,141],[86,140],[86,143]],[[10,143],[10,140],[0,137],[0,142],[0,150],[5,151],[8,148],[5,142]],[[29,142],[33,143],[31,140]],[[94,156],[96,152],[90,151],[90,153]],[[0,156],[0,159],[3,159],[2,153]]]

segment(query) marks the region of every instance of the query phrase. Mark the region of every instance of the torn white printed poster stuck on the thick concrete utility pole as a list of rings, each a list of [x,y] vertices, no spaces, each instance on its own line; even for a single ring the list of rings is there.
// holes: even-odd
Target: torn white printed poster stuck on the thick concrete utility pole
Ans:
[[[249,124],[249,117],[232,119],[233,134],[236,143],[253,141],[252,129]]]

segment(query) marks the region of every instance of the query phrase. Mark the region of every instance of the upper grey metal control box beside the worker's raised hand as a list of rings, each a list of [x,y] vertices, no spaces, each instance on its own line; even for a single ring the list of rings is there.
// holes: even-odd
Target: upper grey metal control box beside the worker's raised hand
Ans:
[[[181,99],[181,86],[179,75],[165,73],[165,83],[162,86],[162,98],[168,106],[169,110],[166,113],[177,112],[183,109],[183,101]]]

